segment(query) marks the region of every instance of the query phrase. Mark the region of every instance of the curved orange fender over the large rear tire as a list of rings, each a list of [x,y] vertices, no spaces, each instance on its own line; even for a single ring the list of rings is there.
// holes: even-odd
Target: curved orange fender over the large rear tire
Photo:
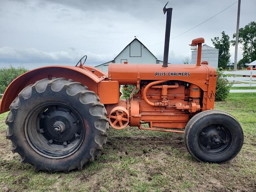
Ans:
[[[10,104],[23,88],[44,78],[64,77],[66,79],[72,79],[73,81],[81,82],[88,86],[89,90],[98,94],[97,84],[107,76],[105,76],[103,72],[102,76],[100,76],[98,70],[97,74],[94,74],[91,70],[95,70],[95,68],[89,67],[88,70],[74,66],[45,66],[28,71],[13,80],[5,90],[0,103],[0,114],[9,110]]]

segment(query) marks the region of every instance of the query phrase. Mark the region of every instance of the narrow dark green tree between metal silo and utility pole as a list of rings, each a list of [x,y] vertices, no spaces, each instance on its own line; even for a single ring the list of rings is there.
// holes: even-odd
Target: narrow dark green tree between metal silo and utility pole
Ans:
[[[218,58],[218,67],[222,67],[224,69],[228,68],[228,63],[230,62],[230,40],[229,36],[225,34],[224,31],[221,32],[222,37],[214,37],[212,40],[212,44],[216,49],[219,50],[219,58]]]

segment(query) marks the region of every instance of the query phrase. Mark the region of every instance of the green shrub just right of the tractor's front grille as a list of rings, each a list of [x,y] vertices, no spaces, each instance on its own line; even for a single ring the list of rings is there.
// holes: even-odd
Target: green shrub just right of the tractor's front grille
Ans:
[[[228,97],[230,87],[232,84],[228,82],[226,75],[223,74],[220,70],[217,69],[217,83],[216,83],[216,94],[215,100],[225,100]]]

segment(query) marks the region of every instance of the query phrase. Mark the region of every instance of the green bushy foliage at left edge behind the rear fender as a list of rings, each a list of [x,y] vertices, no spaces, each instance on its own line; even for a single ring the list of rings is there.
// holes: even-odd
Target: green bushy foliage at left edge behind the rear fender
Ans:
[[[16,77],[26,72],[28,69],[24,67],[15,68],[10,66],[8,68],[0,68],[0,94],[3,94],[7,86],[14,80]]]

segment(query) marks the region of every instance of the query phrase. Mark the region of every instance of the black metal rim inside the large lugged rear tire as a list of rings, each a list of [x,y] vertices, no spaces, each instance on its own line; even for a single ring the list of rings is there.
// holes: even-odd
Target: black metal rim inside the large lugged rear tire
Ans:
[[[64,158],[74,154],[85,136],[85,126],[74,108],[45,102],[32,110],[24,124],[28,144],[40,155]]]

